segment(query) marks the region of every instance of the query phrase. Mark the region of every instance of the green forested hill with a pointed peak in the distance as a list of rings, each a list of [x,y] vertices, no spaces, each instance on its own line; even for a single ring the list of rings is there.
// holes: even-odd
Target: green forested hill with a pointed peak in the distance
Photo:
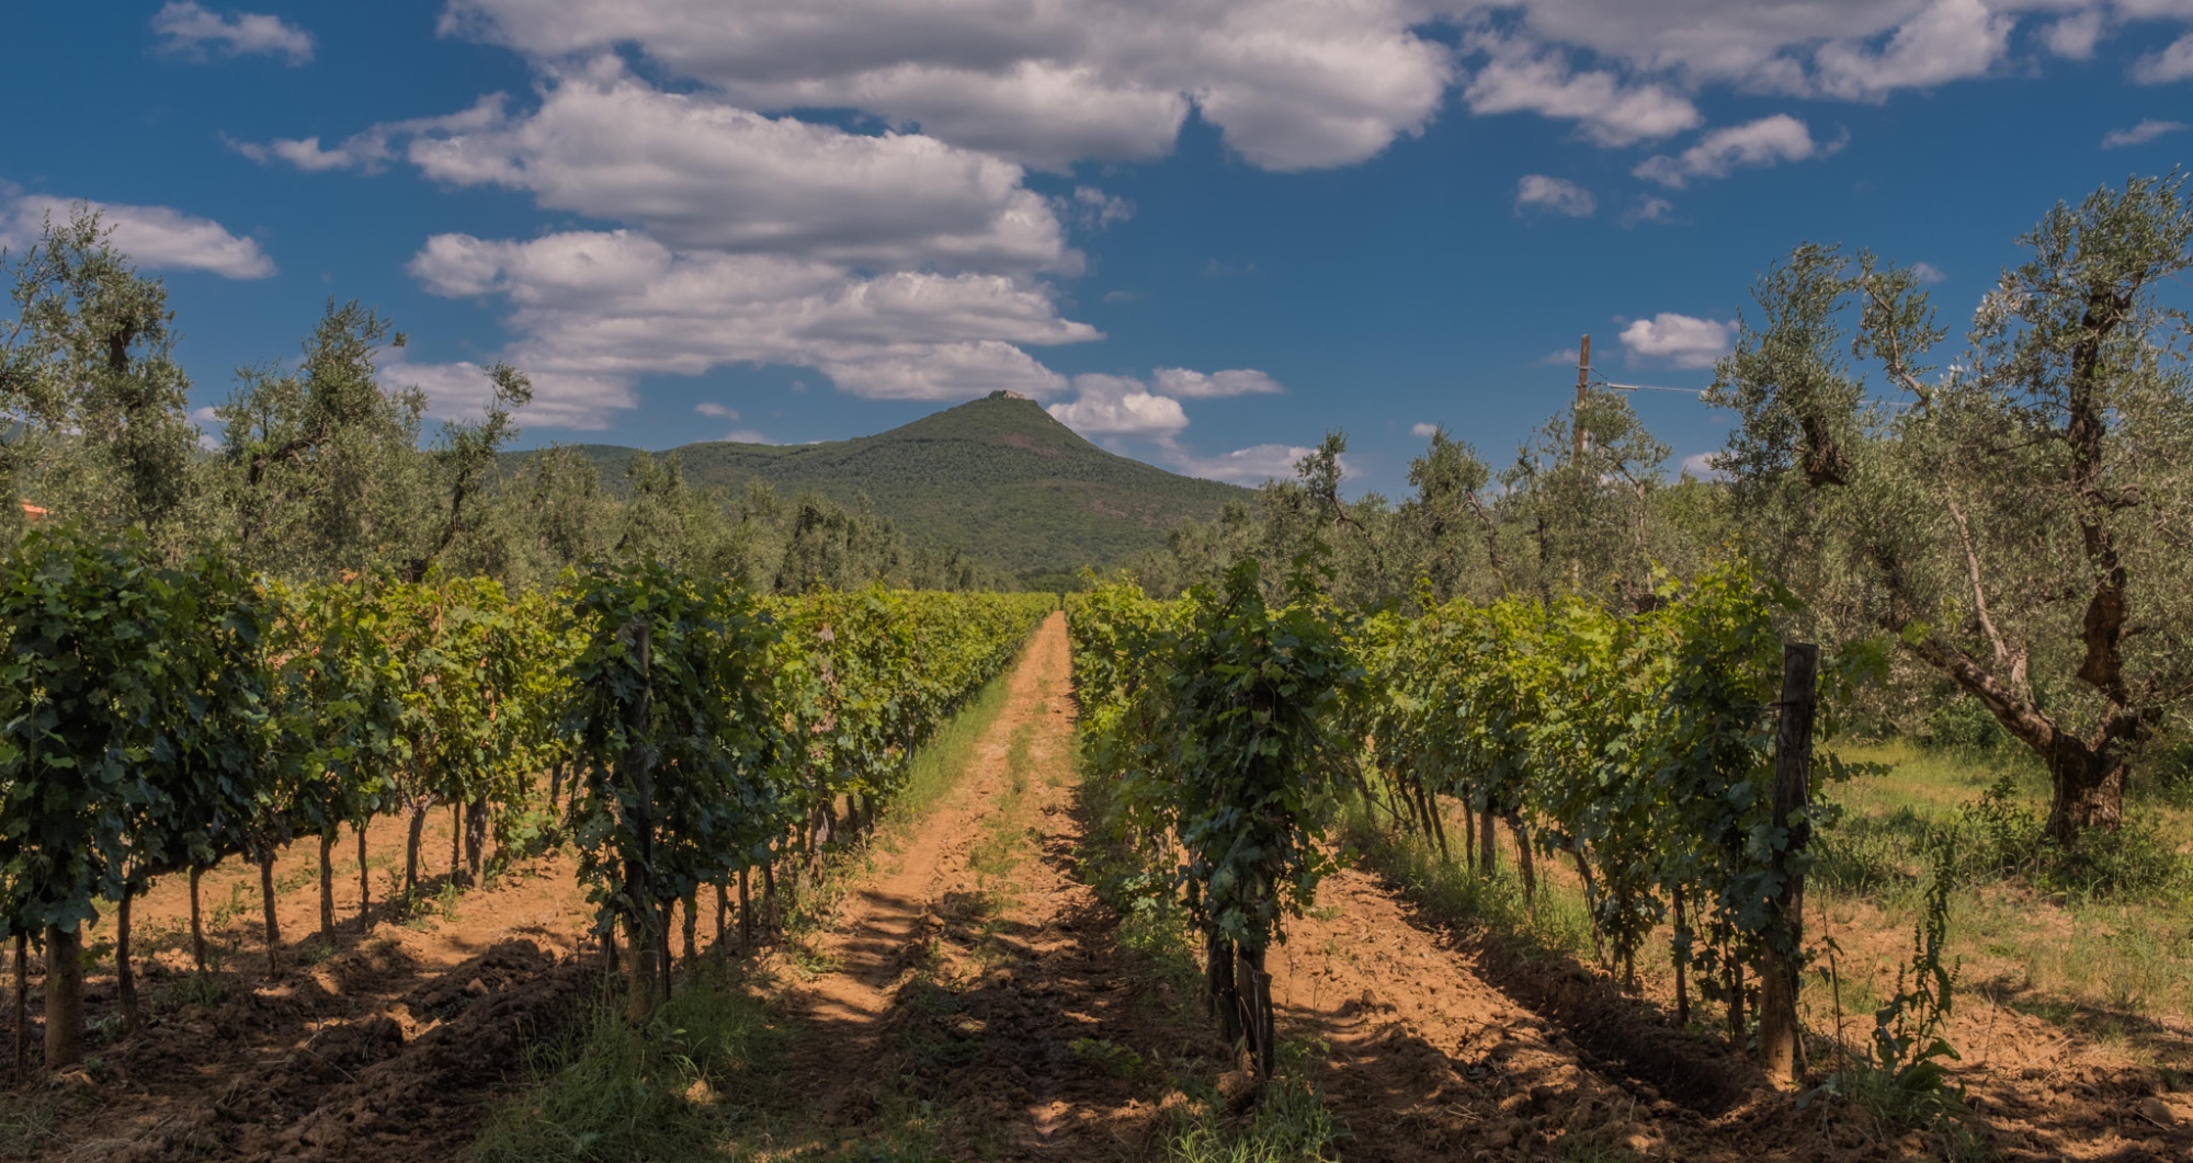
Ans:
[[[636,450],[579,445],[618,487]],[[908,426],[851,441],[763,445],[689,443],[671,450],[695,485],[781,496],[866,496],[910,540],[956,546],[1013,573],[1110,564],[1164,544],[1182,518],[1208,520],[1237,485],[1178,476],[1116,456],[1050,419],[1033,399],[991,393]]]

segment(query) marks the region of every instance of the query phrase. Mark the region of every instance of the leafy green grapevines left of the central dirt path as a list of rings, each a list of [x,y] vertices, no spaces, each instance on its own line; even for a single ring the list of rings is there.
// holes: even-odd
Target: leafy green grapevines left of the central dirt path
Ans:
[[[46,1062],[83,1053],[83,926],[112,906],[125,1027],[129,902],[154,878],[243,856],[261,871],[373,818],[461,821],[452,876],[568,836],[623,935],[632,1005],[667,987],[673,902],[721,908],[873,827],[923,739],[1013,658],[1050,595],[757,597],[629,564],[507,592],[480,577],[285,586],[215,555],[162,564],[136,538],[35,529],[0,560],[0,935],[46,955]],[[743,913],[741,913],[743,915]],[[689,933],[691,944],[691,933]],[[18,1036],[20,1038],[20,1036]],[[22,1045],[18,1042],[18,1064]]]

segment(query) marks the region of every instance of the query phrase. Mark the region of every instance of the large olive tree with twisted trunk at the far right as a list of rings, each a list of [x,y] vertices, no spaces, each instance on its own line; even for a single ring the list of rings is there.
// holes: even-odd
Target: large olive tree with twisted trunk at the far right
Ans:
[[[2029,746],[2061,845],[2121,823],[2127,764],[2193,693],[2193,375],[2164,303],[2189,239],[2182,176],[2057,204],[1945,369],[1912,270],[1803,246],[1715,373],[1754,553]]]

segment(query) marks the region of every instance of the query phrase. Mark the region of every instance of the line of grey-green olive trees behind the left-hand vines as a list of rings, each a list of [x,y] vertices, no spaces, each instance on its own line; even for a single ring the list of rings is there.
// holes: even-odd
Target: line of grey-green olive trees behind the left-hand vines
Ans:
[[[1004,588],[954,549],[914,546],[864,507],[686,483],[638,456],[603,481],[579,450],[511,452],[533,397],[482,371],[480,413],[430,430],[428,397],[379,364],[406,347],[382,314],[329,301],[296,358],[237,371],[189,408],[167,287],[79,208],[9,261],[0,323],[0,529],[29,518],[140,529],[164,562],[217,549],[246,573],[336,579],[432,568],[544,586],[603,557],[651,557],[765,592],[816,586]]]

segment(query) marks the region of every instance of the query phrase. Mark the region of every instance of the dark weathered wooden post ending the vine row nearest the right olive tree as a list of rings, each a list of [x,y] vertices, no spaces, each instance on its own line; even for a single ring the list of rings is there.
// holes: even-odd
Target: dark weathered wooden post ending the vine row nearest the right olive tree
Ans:
[[[1770,1077],[1792,1082],[1805,1058],[1796,1023],[1798,970],[1805,948],[1805,876],[1792,860],[1811,838],[1811,718],[1820,647],[1783,647],[1781,724],[1774,731],[1774,823],[1789,843],[1774,856],[1781,895],[1768,902],[1765,959],[1759,966],[1759,1058]],[[1789,818],[1796,816],[1796,823]]]

